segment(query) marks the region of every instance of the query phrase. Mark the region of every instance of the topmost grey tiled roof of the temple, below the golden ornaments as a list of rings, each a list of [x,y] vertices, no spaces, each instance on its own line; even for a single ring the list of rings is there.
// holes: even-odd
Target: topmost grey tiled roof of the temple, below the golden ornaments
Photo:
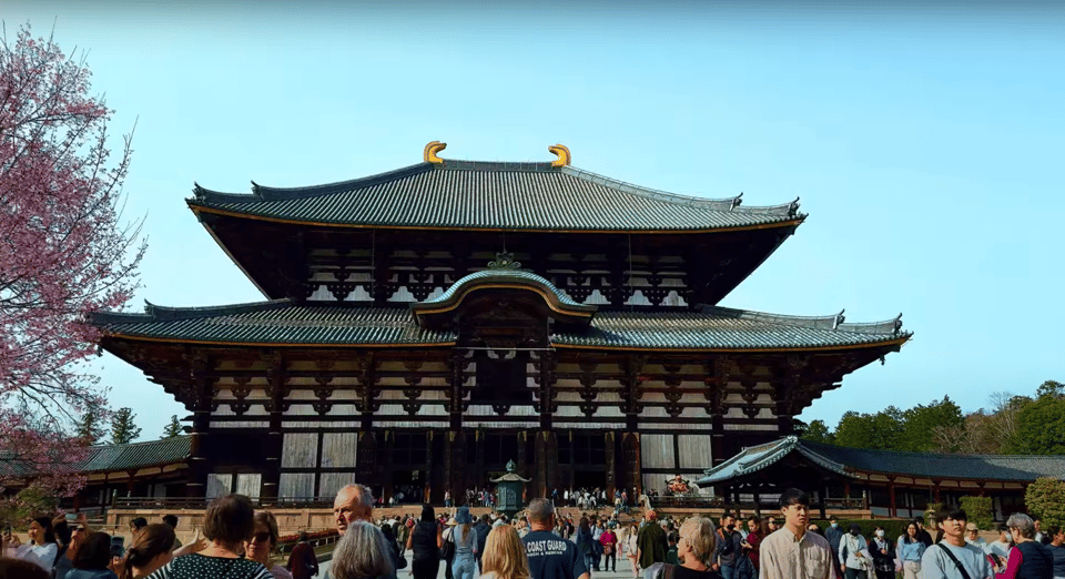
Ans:
[[[445,160],[310,187],[253,183],[252,194],[199,185],[194,211],[365,227],[513,231],[710,231],[801,221],[798,200],[749,207],[622,183],[550,163]]]

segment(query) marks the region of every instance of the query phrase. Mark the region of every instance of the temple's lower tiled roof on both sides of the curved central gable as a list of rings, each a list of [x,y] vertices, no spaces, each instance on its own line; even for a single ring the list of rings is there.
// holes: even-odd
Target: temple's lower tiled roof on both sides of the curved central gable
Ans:
[[[162,341],[264,345],[452,344],[450,331],[417,325],[403,308],[300,306],[287,299],[221,307],[163,308],[145,314],[94,314],[108,334]],[[841,316],[791,317],[707,307],[703,312],[601,312],[591,325],[559,332],[559,347],[642,349],[782,349],[848,347],[903,341],[896,319],[840,324]],[[833,324],[835,328],[833,329]]]

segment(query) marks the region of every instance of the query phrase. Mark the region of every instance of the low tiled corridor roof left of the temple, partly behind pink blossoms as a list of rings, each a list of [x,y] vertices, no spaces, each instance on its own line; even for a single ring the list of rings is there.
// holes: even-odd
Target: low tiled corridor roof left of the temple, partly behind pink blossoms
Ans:
[[[191,453],[191,436],[175,436],[150,443],[93,446],[89,448],[89,454],[83,460],[71,466],[71,470],[75,473],[135,470],[181,463],[189,458]],[[4,453],[4,456],[0,457],[0,475],[32,476],[33,468],[19,461],[13,454]]]

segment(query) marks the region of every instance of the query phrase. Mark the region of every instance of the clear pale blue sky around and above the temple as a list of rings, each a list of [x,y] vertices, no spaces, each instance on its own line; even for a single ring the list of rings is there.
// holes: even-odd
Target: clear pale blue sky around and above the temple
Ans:
[[[84,4],[6,2],[0,18],[9,40],[29,20],[88,49],[113,132],[136,121],[135,309],[261,298],[186,209],[193,181],[353,179],[419,162],[432,140],[488,161],[562,143],[640,185],[802,197],[807,223],[722,305],[904,314],[912,343],[804,420],[943,395],[975,410],[1065,380],[1059,2]],[[186,414],[121,360],[99,367],[143,438]]]

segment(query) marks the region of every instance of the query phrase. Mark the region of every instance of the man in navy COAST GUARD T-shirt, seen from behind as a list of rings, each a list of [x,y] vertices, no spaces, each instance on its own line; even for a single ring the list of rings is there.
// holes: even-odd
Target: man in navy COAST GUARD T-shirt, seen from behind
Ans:
[[[585,559],[577,552],[577,546],[556,537],[555,506],[542,498],[532,499],[526,514],[531,530],[521,542],[529,558],[531,579],[588,579]]]

